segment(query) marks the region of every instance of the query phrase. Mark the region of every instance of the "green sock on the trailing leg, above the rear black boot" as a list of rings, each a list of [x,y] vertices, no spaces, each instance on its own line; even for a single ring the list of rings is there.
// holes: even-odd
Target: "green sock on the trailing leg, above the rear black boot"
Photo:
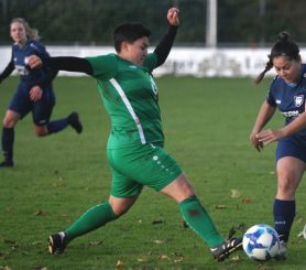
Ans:
[[[64,231],[67,237],[66,242],[68,244],[74,238],[97,229],[118,217],[119,216],[113,213],[109,202],[96,205],[85,212],[68,229]]]

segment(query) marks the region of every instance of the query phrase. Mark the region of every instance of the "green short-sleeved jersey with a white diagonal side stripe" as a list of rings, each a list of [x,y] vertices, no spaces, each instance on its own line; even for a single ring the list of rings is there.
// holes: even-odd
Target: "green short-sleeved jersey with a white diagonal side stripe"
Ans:
[[[92,76],[110,116],[108,149],[164,141],[159,93],[151,75],[156,55],[149,54],[139,66],[117,54],[87,57]]]

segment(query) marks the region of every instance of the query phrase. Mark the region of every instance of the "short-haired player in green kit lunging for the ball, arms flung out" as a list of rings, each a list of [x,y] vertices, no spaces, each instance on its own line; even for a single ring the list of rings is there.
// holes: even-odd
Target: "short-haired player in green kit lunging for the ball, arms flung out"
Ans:
[[[176,8],[168,10],[167,21],[168,31],[151,54],[147,54],[151,32],[140,23],[124,23],[113,32],[117,54],[86,58],[30,57],[32,68],[46,65],[96,78],[111,119],[107,147],[112,172],[109,199],[88,209],[69,228],[51,235],[51,253],[62,253],[74,238],[127,213],[144,185],[178,203],[184,220],[205,240],[218,261],[241,248],[240,238],[225,240],[219,235],[186,175],[163,148],[157,87],[151,74],[165,62],[173,45],[179,24]]]

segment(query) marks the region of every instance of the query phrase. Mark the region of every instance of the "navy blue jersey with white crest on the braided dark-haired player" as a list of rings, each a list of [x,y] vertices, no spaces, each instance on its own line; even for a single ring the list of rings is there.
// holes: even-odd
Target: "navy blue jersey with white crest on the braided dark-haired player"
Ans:
[[[306,65],[302,64],[300,77],[297,84],[289,85],[280,76],[276,76],[271,84],[266,101],[277,109],[285,117],[285,125],[305,111],[306,96]],[[299,137],[306,144],[306,129],[298,131]]]

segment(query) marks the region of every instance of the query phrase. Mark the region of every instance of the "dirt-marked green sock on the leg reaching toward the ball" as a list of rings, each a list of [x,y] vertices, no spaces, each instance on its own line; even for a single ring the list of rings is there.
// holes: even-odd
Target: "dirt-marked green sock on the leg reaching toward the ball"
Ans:
[[[194,229],[210,248],[225,241],[196,196],[188,197],[181,202],[179,208],[188,226]]]

